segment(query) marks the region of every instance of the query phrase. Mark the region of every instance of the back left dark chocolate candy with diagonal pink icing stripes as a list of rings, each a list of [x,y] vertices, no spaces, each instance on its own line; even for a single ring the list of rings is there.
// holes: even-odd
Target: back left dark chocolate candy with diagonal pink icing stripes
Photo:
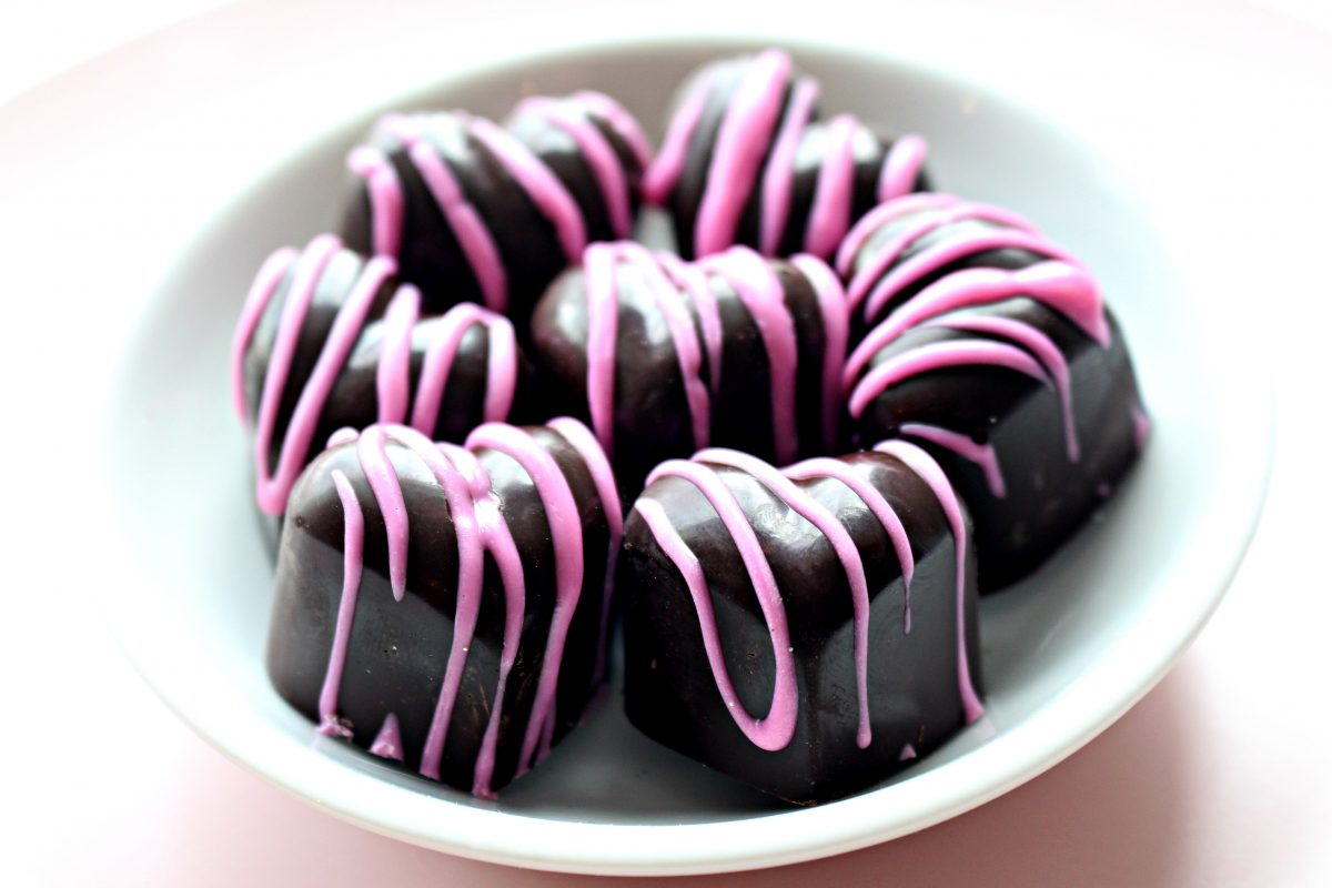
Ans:
[[[342,232],[397,257],[426,312],[464,301],[531,305],[591,241],[629,237],[650,146],[629,112],[593,92],[531,97],[505,126],[466,112],[389,114],[348,158]]]

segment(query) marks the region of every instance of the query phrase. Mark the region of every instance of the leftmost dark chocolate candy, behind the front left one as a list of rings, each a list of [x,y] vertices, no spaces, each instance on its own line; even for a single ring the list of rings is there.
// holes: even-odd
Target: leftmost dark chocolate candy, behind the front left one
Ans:
[[[393,272],[393,260],[365,260],[328,234],[260,270],[236,330],[233,394],[254,433],[265,514],[282,514],[338,429],[402,422],[462,441],[482,422],[531,415],[513,325],[472,304],[422,317],[418,292]]]

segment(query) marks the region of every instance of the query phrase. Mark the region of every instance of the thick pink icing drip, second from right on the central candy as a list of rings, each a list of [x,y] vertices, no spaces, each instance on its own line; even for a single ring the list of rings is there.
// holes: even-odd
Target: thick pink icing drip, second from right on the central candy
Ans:
[[[795,459],[798,434],[795,425],[795,374],[799,345],[795,320],[786,308],[782,282],[773,268],[754,250],[733,246],[719,256],[699,261],[705,272],[718,274],[743,302],[758,328],[767,369],[773,410],[773,446],[782,465]]]

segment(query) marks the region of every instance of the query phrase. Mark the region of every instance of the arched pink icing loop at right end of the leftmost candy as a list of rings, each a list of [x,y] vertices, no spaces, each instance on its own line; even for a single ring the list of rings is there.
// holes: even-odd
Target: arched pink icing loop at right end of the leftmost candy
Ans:
[[[513,324],[502,314],[488,312],[470,302],[460,302],[444,313],[426,346],[416,402],[412,406],[412,427],[417,431],[429,435],[438,425],[444,391],[462,347],[462,338],[469,329],[478,325],[488,335],[485,419],[498,422],[507,418],[518,387],[518,350]],[[406,394],[408,389],[404,385],[404,401]]]

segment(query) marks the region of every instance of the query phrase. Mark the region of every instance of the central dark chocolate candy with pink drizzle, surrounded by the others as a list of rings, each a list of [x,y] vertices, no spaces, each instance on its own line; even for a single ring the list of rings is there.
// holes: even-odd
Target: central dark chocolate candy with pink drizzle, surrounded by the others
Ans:
[[[590,421],[629,498],[709,445],[781,465],[835,445],[846,300],[814,257],[594,244],[537,305],[533,339],[551,406]]]

